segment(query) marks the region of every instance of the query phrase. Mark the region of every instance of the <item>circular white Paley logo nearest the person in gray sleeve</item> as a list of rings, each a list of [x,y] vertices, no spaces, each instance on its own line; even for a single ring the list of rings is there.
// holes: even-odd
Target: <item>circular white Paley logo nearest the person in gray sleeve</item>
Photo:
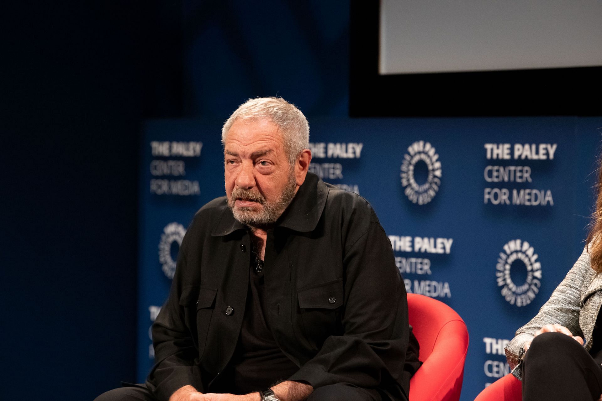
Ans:
[[[541,287],[541,263],[527,241],[513,239],[504,245],[495,265],[497,286],[510,305],[529,305]]]

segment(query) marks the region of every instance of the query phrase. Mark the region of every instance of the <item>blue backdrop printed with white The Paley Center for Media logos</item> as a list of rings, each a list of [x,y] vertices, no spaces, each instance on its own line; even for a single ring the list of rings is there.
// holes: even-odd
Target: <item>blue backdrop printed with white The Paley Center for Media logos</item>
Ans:
[[[222,196],[222,121],[148,121],[141,144],[138,379],[179,243]],[[503,348],[583,249],[602,118],[310,118],[310,170],[366,198],[408,292],[450,305],[470,347],[462,400],[509,372]]]

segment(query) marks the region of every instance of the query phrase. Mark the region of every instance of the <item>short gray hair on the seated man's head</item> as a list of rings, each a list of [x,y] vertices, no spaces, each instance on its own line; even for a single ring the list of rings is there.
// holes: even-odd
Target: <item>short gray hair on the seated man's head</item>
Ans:
[[[268,118],[276,124],[282,133],[284,150],[291,165],[302,150],[309,147],[307,118],[293,103],[288,103],[282,97],[257,97],[238,106],[222,127],[222,144],[226,143],[230,127],[239,118],[243,120]]]

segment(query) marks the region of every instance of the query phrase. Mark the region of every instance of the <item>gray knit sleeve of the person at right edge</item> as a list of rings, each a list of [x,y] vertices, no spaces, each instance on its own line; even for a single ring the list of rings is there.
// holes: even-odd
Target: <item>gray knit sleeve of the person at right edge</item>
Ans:
[[[579,312],[581,292],[584,287],[584,281],[591,277],[591,266],[589,263],[589,253],[586,248],[573,265],[573,268],[566,274],[562,283],[560,283],[550,299],[541,307],[539,313],[526,325],[517,330],[515,337],[506,346],[506,358],[512,374],[521,379],[521,365],[523,361],[524,344],[533,340],[533,334],[542,326],[558,323],[568,328],[573,335],[583,336],[579,326]],[[587,288],[587,284],[585,284]]]

